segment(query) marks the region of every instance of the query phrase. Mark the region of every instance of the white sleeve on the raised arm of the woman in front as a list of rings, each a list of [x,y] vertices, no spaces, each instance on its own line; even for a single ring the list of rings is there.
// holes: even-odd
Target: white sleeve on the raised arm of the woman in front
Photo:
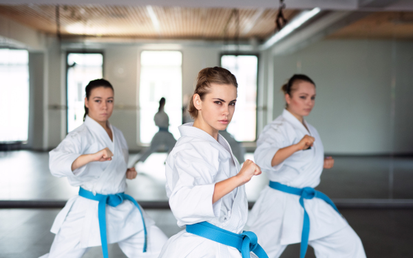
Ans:
[[[218,218],[221,200],[212,204],[217,169],[204,159],[197,159],[195,156],[200,154],[196,150],[182,152],[174,159],[173,182],[169,185],[169,205],[173,215],[182,224]]]

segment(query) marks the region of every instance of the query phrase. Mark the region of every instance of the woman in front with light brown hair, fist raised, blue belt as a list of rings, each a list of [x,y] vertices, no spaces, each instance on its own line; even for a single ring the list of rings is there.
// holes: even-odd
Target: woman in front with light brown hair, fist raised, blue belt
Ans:
[[[181,137],[166,163],[167,195],[178,226],[160,257],[267,257],[252,232],[242,233],[248,214],[244,184],[260,167],[245,161],[240,169],[218,133],[231,122],[237,81],[228,70],[198,73],[189,113],[195,119],[179,127]],[[242,253],[241,253],[242,250]],[[254,256],[255,257],[255,256]]]

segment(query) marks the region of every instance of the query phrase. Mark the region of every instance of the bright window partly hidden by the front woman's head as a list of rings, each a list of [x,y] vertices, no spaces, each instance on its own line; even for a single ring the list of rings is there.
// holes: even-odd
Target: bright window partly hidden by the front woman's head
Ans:
[[[235,75],[238,97],[227,131],[237,141],[255,141],[257,129],[257,56],[221,56],[221,66]]]

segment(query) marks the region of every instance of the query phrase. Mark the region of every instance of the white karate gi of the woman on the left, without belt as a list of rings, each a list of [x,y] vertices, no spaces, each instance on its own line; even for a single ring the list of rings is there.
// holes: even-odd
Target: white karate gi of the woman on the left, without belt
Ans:
[[[127,143],[118,128],[110,124],[109,128],[113,141],[100,124],[87,116],[81,126],[67,134],[50,152],[50,172],[57,177],[65,176],[70,185],[81,186],[93,193],[125,191],[129,159]],[[114,154],[112,161],[91,162],[72,172],[72,163],[78,156],[96,153],[106,147]],[[127,257],[158,257],[167,237],[145,212],[143,215],[148,234],[147,253],[142,253],[144,233],[140,212],[129,200],[117,207],[106,206],[107,243],[118,242]],[[81,257],[89,247],[100,246],[98,202],[81,196],[70,198],[56,216],[51,231],[56,236],[50,253],[43,257]]]

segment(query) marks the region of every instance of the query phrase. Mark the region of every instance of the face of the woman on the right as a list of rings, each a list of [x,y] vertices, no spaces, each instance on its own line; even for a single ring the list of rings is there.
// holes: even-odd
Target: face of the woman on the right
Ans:
[[[293,85],[291,96],[286,94],[287,110],[300,117],[310,115],[315,104],[315,86],[310,82],[299,81]]]

